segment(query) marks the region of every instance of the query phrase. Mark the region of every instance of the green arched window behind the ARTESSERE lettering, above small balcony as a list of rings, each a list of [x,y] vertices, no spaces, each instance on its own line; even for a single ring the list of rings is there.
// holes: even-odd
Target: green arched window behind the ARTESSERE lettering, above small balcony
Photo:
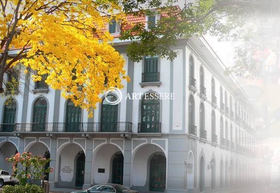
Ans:
[[[160,133],[160,100],[155,93],[145,93],[141,106],[140,133]]]

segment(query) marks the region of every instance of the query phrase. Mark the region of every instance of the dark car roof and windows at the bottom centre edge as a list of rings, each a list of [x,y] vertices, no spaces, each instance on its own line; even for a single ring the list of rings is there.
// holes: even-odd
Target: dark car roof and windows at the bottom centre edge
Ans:
[[[98,184],[87,190],[72,193],[138,193],[120,184]]]

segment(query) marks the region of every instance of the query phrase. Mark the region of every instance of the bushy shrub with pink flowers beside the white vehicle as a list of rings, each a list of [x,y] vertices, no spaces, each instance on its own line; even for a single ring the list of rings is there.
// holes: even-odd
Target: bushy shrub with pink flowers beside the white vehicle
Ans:
[[[27,183],[27,179],[41,180],[46,174],[52,172],[52,168],[45,167],[51,160],[42,158],[42,156],[32,156],[29,152],[23,152],[22,154],[16,153],[10,158],[6,158],[6,161],[13,164],[13,174],[19,181],[19,184],[24,186]]]

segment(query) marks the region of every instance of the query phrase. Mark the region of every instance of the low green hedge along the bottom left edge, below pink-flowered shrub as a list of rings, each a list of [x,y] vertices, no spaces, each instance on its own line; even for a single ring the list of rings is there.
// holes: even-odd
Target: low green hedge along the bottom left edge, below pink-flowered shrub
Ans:
[[[44,193],[44,191],[35,184],[26,184],[24,186],[3,186],[1,193]]]

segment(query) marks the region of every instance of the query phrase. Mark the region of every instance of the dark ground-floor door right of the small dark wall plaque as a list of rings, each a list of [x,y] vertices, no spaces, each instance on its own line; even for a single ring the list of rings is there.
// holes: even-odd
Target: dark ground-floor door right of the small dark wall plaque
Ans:
[[[116,154],[113,159],[112,166],[112,183],[122,185],[123,177],[123,155],[122,153]]]

